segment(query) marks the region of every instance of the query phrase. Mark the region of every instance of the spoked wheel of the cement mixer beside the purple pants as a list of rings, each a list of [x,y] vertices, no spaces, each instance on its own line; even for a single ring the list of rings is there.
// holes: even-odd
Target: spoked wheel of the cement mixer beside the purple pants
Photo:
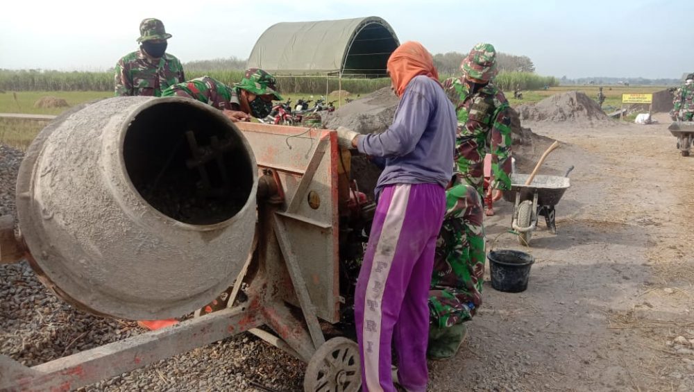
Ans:
[[[304,376],[304,391],[357,392],[362,387],[359,346],[344,337],[329,339],[311,357]]]

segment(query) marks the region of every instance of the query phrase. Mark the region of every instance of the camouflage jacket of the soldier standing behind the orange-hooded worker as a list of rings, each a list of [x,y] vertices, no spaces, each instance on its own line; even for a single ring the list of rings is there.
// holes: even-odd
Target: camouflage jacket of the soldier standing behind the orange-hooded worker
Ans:
[[[484,155],[491,153],[491,187],[511,189],[511,116],[506,96],[493,83],[471,94],[462,78],[444,80],[455,106],[455,163],[460,180],[484,196]]]

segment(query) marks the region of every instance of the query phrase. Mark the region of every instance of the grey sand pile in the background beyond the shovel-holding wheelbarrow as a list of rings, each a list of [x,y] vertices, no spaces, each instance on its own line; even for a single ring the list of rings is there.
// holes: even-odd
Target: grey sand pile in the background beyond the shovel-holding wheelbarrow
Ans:
[[[611,123],[597,102],[577,91],[555,94],[534,104],[526,103],[516,110],[523,122],[571,121],[577,126],[604,126]]]

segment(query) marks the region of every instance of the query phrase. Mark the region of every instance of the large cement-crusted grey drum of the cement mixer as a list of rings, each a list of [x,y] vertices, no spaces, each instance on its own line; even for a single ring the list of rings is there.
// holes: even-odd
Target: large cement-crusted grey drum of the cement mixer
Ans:
[[[44,128],[17,179],[19,228],[44,284],[95,314],[151,320],[205,305],[237,277],[257,167],[208,105],[118,97]]]

